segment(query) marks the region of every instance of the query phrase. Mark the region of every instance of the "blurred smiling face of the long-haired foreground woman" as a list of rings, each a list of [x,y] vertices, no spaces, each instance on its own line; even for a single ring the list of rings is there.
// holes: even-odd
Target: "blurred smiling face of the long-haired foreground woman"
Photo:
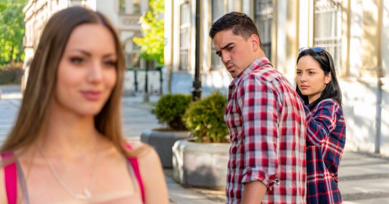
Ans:
[[[77,115],[97,115],[116,84],[116,63],[115,40],[105,26],[76,27],[59,62],[55,102]]]

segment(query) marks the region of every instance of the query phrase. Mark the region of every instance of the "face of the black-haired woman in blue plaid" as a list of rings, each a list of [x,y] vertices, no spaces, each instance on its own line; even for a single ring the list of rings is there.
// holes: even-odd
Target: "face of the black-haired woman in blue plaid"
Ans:
[[[308,96],[309,103],[320,97],[325,86],[331,81],[331,73],[324,75],[323,69],[311,56],[303,56],[297,64],[297,85],[301,93]]]

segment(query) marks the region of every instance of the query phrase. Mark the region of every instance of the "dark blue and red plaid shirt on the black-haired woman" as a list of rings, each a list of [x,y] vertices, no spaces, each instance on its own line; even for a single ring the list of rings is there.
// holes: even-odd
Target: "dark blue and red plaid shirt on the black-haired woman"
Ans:
[[[333,99],[319,102],[309,111],[304,105],[307,132],[307,204],[342,204],[337,170],[346,143],[346,123]]]

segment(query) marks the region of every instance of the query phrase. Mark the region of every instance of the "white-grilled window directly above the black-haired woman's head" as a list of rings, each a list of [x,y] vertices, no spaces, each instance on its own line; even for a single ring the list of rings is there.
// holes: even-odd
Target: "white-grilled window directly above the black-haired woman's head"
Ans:
[[[342,62],[342,0],[315,0],[314,46],[324,47],[340,70]]]

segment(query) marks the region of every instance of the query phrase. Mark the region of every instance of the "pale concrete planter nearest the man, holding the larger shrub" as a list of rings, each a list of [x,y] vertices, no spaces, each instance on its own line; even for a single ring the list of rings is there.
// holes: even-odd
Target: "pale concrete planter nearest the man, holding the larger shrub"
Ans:
[[[196,143],[178,140],[173,146],[173,178],[200,187],[225,187],[230,143]]]

